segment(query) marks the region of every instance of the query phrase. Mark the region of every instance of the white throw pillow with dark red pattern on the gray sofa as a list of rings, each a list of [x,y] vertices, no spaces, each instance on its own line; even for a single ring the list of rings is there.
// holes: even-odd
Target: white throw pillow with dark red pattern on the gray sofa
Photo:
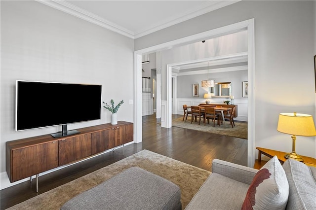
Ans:
[[[284,210],[289,194],[285,172],[274,156],[254,176],[242,210]]]

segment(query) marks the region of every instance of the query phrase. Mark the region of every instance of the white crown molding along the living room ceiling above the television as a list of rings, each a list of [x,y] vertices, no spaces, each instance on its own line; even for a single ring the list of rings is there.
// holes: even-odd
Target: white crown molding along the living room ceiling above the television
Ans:
[[[143,29],[143,30],[136,32],[136,33],[132,32],[124,27],[117,25],[116,23],[108,21],[108,20],[106,20],[98,15],[95,15],[91,12],[88,12],[88,11],[78,7],[78,6],[75,6],[74,4],[71,4],[65,0],[36,0],[36,1],[43,3],[47,6],[53,7],[55,9],[58,9],[60,11],[66,12],[70,15],[79,17],[83,20],[86,20],[90,23],[101,26],[103,28],[106,28],[110,31],[116,32],[120,35],[124,35],[124,36],[127,36],[129,38],[135,39],[135,38],[139,38],[139,37],[144,36],[144,35],[149,35],[151,33],[154,33],[154,32],[159,31],[161,29],[164,29],[164,28],[170,27],[172,25],[181,23],[183,21],[195,18],[199,15],[205,14],[207,12],[211,12],[211,11],[219,9],[221,7],[228,6],[230,4],[238,2],[240,0],[209,1],[209,2],[207,2],[207,4],[201,5],[199,8],[197,8],[195,11],[193,11],[189,14],[186,14],[186,15],[183,15],[181,17],[170,20],[167,23],[158,24],[157,26],[154,26],[151,29]]]

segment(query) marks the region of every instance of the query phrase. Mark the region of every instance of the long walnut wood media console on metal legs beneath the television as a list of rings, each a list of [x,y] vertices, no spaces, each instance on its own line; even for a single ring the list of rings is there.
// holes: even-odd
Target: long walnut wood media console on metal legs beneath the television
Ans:
[[[133,123],[119,121],[78,129],[78,134],[53,138],[51,135],[7,141],[6,172],[10,182],[27,177],[32,181],[42,172],[75,163],[108,149],[133,141]],[[124,151],[123,151],[124,155]]]

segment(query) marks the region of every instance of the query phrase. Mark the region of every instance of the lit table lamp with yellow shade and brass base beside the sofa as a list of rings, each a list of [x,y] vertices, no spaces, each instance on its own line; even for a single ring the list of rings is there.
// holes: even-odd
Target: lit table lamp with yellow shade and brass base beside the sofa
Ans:
[[[280,113],[277,123],[277,131],[292,135],[292,152],[286,153],[285,158],[303,161],[303,158],[295,152],[296,136],[316,136],[313,116],[299,113]]]

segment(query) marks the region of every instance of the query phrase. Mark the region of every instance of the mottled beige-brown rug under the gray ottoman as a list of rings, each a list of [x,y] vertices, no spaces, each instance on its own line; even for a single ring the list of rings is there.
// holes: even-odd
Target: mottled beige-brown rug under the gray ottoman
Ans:
[[[178,185],[181,189],[182,209],[185,209],[200,186],[211,174],[203,169],[155,152],[142,150],[116,163],[17,204],[9,210],[59,210],[64,203],[79,193],[132,166],[140,167]]]

